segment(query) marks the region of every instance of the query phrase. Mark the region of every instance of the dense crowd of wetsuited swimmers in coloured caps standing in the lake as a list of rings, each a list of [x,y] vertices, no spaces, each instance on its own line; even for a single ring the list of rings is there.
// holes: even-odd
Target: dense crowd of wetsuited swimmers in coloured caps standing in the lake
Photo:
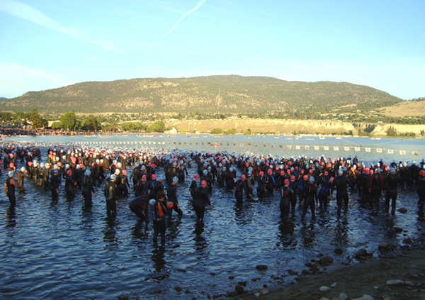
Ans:
[[[322,157],[278,158],[267,155],[235,155],[226,152],[216,153],[166,153],[154,154],[149,151],[128,152],[94,149],[47,150],[47,159],[42,162],[39,148],[6,147],[0,152],[3,168],[8,178],[4,191],[15,206],[15,189],[23,191],[24,180],[49,189],[52,201],[58,201],[61,181],[68,201],[72,201],[77,190],[81,190],[85,206],[92,205],[92,195],[96,196],[95,184],[104,185],[106,213],[116,213],[120,196],[128,196],[134,191],[135,198],[129,207],[142,221],[148,222],[149,206],[154,211],[154,243],[160,233],[165,243],[166,220],[172,211],[180,209],[177,185],[188,178],[188,168],[196,167],[189,191],[192,206],[196,212],[196,222],[203,224],[205,207],[212,209],[210,194],[215,187],[234,191],[237,204],[251,199],[254,191],[261,197],[280,195],[280,217],[284,222],[295,215],[295,206],[302,206],[302,221],[310,208],[315,218],[315,209],[326,210],[329,197],[336,191],[337,216],[346,217],[348,211],[348,188],[351,193],[358,191],[359,198],[375,209],[379,209],[380,197],[385,194],[385,213],[395,216],[397,191],[399,187],[416,187],[419,200],[419,214],[423,213],[425,202],[425,160],[416,162],[391,162],[382,160],[366,166],[357,157],[333,160]],[[16,165],[23,167],[14,180]],[[132,168],[130,177],[127,170]],[[164,175],[157,171],[163,169]],[[1,171],[1,170],[0,170]],[[239,173],[239,176],[238,176]],[[130,186],[132,181],[132,186]],[[199,183],[198,183],[199,182]]]

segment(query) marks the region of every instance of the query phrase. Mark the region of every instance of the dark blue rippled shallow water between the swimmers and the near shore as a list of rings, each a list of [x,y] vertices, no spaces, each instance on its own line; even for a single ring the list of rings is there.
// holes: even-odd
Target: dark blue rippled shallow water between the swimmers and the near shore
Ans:
[[[152,142],[155,138],[149,139]],[[192,138],[176,143],[188,140],[194,143]],[[59,142],[55,138],[50,141]],[[424,146],[409,147],[418,151],[414,148]],[[334,152],[328,156],[339,156],[331,154]],[[365,159],[362,154],[357,154],[360,160],[376,158]],[[45,158],[45,152],[43,155]],[[195,172],[189,169],[189,178]],[[6,174],[2,174],[1,182],[5,179]],[[347,256],[358,248],[376,255],[378,243],[404,245],[404,239],[415,240],[424,231],[425,222],[416,215],[417,195],[413,190],[399,191],[397,209],[405,207],[407,213],[397,212],[394,223],[385,218],[383,204],[377,215],[361,207],[357,194],[352,194],[346,222],[337,221],[336,201],[331,200],[328,211],[319,213],[315,221],[310,221],[307,213],[307,222],[301,223],[302,211],[297,210],[293,227],[288,227],[280,223],[277,195],[235,206],[232,193],[216,188],[211,196],[214,210],[205,213],[205,226],[200,228],[188,205],[189,184],[190,180],[178,185],[183,218],[179,221],[174,214],[164,248],[154,248],[152,223],[146,228],[128,209],[131,194],[119,201],[117,216],[108,218],[103,186],[96,187],[94,206],[88,210],[83,208],[79,193],[74,201],[67,202],[64,187],[60,200],[52,203],[49,191],[27,181],[26,191],[16,193],[14,210],[9,209],[8,199],[1,193],[0,298],[117,299],[128,294],[140,299],[190,299],[224,295],[244,280],[248,281],[247,289],[293,282],[287,270],[300,272],[319,252],[334,256],[336,265],[347,262]],[[395,234],[393,226],[404,232]],[[343,248],[344,255],[334,255],[335,248]],[[268,265],[268,270],[260,272],[256,265]],[[183,291],[176,291],[176,285]],[[155,294],[159,290],[161,294]]]

